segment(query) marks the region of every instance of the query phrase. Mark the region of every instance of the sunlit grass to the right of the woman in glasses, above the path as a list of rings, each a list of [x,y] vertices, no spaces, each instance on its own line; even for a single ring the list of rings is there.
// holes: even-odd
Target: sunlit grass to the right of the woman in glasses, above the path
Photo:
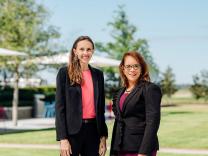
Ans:
[[[163,107],[161,147],[208,149],[208,105]]]

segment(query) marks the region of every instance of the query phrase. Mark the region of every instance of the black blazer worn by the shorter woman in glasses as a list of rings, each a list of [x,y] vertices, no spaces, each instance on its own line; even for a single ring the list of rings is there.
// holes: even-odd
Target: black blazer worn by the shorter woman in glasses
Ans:
[[[113,99],[115,123],[111,155],[114,151],[148,154],[158,150],[160,88],[153,83],[139,81],[126,97],[121,111],[119,101],[124,91],[125,88],[122,88]]]

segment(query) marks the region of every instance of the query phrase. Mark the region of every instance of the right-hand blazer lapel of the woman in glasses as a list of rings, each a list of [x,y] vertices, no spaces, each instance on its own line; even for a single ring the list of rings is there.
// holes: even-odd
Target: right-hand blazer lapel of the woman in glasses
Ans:
[[[126,107],[128,106],[128,103],[134,99],[134,96],[140,96],[141,95],[141,87],[142,87],[143,83],[140,81],[137,83],[137,85],[135,86],[135,88],[132,90],[132,92],[129,93],[129,95],[126,97],[126,99],[124,100],[124,104],[123,104],[123,108],[121,113],[124,113],[126,110]],[[120,100],[119,100],[120,101]]]

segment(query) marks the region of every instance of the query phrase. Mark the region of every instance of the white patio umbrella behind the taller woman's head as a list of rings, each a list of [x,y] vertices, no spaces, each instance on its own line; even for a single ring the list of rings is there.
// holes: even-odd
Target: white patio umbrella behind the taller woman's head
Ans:
[[[42,56],[37,57],[32,60],[28,60],[29,62],[36,64],[67,64],[69,61],[69,53],[62,53],[53,56]],[[28,62],[27,61],[27,62]],[[23,63],[26,63],[25,61]],[[94,66],[104,67],[104,66],[118,66],[120,64],[119,60],[107,58],[104,56],[96,56],[93,55],[90,60],[90,64]]]

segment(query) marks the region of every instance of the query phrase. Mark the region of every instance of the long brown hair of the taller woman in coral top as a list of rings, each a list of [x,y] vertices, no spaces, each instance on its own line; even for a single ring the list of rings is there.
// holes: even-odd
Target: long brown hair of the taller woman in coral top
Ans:
[[[70,79],[70,84],[81,84],[82,83],[82,71],[81,71],[81,65],[79,62],[78,57],[75,55],[73,49],[77,48],[77,44],[80,41],[87,40],[90,43],[92,43],[93,49],[95,48],[95,45],[92,41],[92,39],[89,36],[80,36],[75,41],[71,48],[71,52],[69,55],[69,64],[68,64],[68,75]]]

